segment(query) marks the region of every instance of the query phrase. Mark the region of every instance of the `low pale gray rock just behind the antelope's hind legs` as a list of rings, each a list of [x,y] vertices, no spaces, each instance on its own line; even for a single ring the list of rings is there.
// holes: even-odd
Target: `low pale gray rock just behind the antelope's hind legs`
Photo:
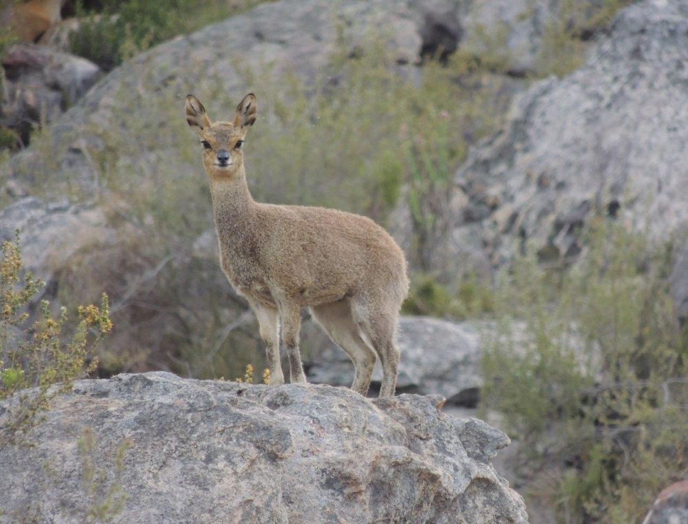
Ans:
[[[483,326],[486,327],[486,326]],[[401,317],[397,345],[401,351],[398,390],[442,395],[451,404],[475,407],[482,387],[481,326],[429,317]],[[354,367],[343,350],[326,344],[308,362],[308,380],[316,384],[350,386]],[[373,386],[382,380],[380,363],[373,371]]]

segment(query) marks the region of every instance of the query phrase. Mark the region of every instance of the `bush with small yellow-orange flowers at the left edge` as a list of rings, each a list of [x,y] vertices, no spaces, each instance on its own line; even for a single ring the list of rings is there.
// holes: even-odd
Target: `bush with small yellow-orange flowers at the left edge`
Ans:
[[[23,273],[19,233],[15,242],[3,242],[0,261],[0,400],[9,399],[0,426],[0,449],[21,443],[23,436],[40,421],[50,399],[69,391],[75,379],[96,368],[90,359],[97,344],[111,331],[109,304],[103,294],[100,308],[78,309],[79,322],[65,339],[67,310],[54,318],[43,300],[38,319],[29,319],[27,306],[43,282]],[[55,387],[52,387],[55,386]],[[33,388],[33,389],[28,389]]]

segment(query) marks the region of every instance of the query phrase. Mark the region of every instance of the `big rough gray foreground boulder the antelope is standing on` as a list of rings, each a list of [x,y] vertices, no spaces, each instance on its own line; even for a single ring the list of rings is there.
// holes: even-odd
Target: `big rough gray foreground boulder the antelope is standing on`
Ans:
[[[161,372],[79,381],[34,430],[36,446],[0,450],[0,507],[24,514],[40,503],[46,522],[78,521],[77,441],[89,426],[101,463],[133,443],[117,480],[130,496],[121,522],[526,523],[491,465],[506,435],[442,415],[441,404]]]

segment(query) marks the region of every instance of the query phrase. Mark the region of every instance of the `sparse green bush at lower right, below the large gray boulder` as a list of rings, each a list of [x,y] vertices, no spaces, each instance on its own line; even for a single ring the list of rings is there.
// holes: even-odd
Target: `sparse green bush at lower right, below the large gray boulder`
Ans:
[[[548,493],[562,522],[621,524],[685,474],[688,338],[667,248],[603,218],[588,237],[568,271],[530,250],[502,274],[482,406],[504,414],[531,468],[567,464]]]

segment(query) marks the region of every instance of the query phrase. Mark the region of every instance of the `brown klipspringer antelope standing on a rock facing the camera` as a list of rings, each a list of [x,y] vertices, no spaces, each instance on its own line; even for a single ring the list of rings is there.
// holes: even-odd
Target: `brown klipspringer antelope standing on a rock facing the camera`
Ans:
[[[409,282],[406,260],[391,236],[363,216],[255,202],[246,184],[241,143],[257,115],[256,98],[239,103],[232,122],[212,123],[202,103],[186,97],[186,120],[200,134],[219,240],[220,264],[256,313],[266,343],[269,384],[283,384],[279,325],[292,382],[305,383],[299,354],[301,308],[351,357],[352,389],[365,395],[376,355],[380,397],[396,388],[394,344]]]

